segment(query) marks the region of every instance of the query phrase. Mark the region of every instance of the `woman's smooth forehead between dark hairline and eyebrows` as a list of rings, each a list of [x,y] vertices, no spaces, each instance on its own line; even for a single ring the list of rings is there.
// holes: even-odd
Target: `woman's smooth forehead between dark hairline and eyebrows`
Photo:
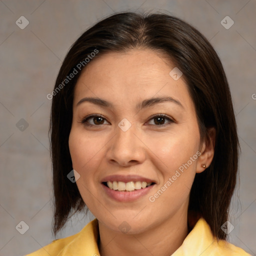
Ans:
[[[169,75],[174,67],[170,60],[150,49],[99,55],[88,63],[78,78],[74,104],[84,96],[136,104],[139,99],[168,95],[189,107],[191,99],[183,77],[174,80]]]

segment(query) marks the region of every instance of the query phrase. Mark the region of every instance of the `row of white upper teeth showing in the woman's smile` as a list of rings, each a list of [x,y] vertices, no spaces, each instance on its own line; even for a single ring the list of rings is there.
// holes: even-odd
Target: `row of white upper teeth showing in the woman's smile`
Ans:
[[[138,190],[141,188],[145,188],[146,186],[151,185],[152,182],[145,182],[145,181],[129,181],[129,182],[122,182],[122,181],[107,181],[106,184],[110,189],[118,190],[118,191],[133,191]]]

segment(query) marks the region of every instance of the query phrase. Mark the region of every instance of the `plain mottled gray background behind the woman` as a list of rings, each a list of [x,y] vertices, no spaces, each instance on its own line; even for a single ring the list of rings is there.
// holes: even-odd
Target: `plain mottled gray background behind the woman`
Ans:
[[[220,56],[241,145],[240,186],[232,200],[229,221],[234,229],[229,241],[255,255],[256,1],[0,0],[1,256],[24,255],[53,239],[47,137],[51,100],[46,94],[53,89],[68,48],[102,17],[137,9],[183,18],[210,40]],[[15,24],[22,15],[29,21],[24,29]],[[229,29],[220,23],[226,15],[234,21]],[[19,121],[21,118],[28,127],[22,127],[25,122]],[[74,216],[57,238],[76,233],[91,219],[92,215]],[[24,234],[15,228],[21,220],[29,226]]]

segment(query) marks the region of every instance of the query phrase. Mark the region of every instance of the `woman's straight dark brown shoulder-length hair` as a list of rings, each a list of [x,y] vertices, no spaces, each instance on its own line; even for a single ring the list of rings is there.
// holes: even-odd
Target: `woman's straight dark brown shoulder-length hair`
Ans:
[[[94,58],[104,52],[124,52],[137,47],[164,53],[182,71],[195,105],[201,138],[208,137],[207,127],[216,129],[214,157],[210,166],[195,175],[188,210],[199,212],[217,239],[226,239],[220,226],[228,218],[239,153],[227,79],[209,41],[187,22],[161,13],[111,15],[86,30],[63,60],[54,86],[55,93],[52,93],[49,129],[54,188],[53,232],[56,234],[71,213],[81,211],[85,206],[76,183],[67,178],[72,170],[68,136],[73,92],[82,70],[77,64],[83,61],[86,68],[84,59],[96,52],[95,49],[98,52]],[[74,68],[78,73],[63,83]]]

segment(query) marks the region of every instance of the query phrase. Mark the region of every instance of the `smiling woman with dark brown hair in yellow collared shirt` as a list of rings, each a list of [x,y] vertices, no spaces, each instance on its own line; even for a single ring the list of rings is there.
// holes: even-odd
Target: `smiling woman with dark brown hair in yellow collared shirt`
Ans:
[[[222,64],[194,27],[105,18],[72,45],[47,98],[53,231],[85,205],[96,218],[29,255],[249,255],[225,241],[236,123]]]

